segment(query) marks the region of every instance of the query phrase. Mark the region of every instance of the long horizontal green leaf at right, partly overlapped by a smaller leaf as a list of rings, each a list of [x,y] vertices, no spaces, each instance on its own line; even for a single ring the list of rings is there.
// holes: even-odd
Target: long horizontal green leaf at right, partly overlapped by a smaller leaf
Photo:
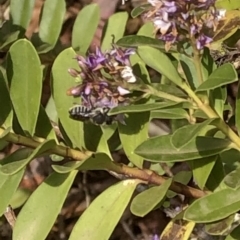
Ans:
[[[171,135],[148,139],[139,145],[135,153],[151,162],[182,162],[216,155],[231,146],[227,139],[197,137],[181,149],[171,144]]]

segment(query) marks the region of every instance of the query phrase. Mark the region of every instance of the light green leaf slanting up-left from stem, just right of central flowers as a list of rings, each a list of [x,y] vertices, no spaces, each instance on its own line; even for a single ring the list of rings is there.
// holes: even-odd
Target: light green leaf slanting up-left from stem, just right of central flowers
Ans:
[[[140,46],[138,54],[149,67],[160,72],[176,85],[182,86],[182,78],[167,55],[148,46]]]

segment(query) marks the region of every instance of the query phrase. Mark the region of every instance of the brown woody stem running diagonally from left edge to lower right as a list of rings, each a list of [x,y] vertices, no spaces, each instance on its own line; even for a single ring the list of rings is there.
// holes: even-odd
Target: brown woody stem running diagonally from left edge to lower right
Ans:
[[[19,144],[29,148],[37,148],[41,143],[45,141],[43,138],[28,138],[15,133],[7,132],[5,129],[0,127],[0,137],[3,137],[7,142]],[[72,158],[76,161],[84,161],[90,157],[93,153],[90,151],[81,152],[69,147],[56,145],[53,149],[49,150],[47,153],[56,154],[62,157]],[[167,180],[166,177],[162,177],[155,172],[148,169],[138,169],[126,166],[124,164],[118,164],[112,162],[112,164],[105,169],[109,172],[115,172],[117,174],[124,175],[125,177],[140,179],[144,182],[161,185],[164,181]],[[172,182],[170,190],[184,194],[188,197],[200,198],[205,196],[208,192],[201,191],[192,187],[185,186],[183,184]]]

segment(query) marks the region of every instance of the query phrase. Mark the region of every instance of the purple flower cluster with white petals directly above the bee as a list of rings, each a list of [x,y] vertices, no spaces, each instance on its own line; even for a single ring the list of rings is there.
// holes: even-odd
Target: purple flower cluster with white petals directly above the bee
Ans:
[[[81,71],[69,69],[69,73],[80,76],[79,85],[68,90],[67,94],[80,97],[81,104],[88,108],[113,108],[128,103],[128,85],[136,82],[129,61],[133,49],[122,49],[113,45],[103,53],[96,48],[87,57],[77,56]]]

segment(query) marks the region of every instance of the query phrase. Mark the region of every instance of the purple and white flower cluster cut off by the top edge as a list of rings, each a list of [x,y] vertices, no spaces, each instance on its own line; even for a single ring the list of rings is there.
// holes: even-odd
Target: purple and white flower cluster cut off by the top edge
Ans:
[[[198,50],[212,41],[211,33],[225,15],[215,8],[216,0],[148,0],[151,8],[144,13],[154,23],[159,39],[168,50],[173,43],[191,40]]]

